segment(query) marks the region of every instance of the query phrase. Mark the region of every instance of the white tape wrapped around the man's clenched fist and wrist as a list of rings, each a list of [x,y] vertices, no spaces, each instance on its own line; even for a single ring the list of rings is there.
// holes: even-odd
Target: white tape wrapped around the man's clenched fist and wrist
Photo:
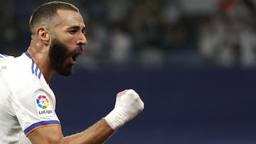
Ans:
[[[105,116],[105,120],[110,127],[116,131],[118,128],[132,120],[144,109],[144,103],[139,94],[129,89],[122,96],[117,96],[114,109]]]

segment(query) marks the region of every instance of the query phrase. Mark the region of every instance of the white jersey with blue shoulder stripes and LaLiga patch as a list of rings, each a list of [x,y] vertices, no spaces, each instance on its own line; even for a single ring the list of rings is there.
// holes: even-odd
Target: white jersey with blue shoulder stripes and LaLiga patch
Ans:
[[[31,143],[27,135],[56,124],[55,95],[31,55],[0,55],[0,143]]]

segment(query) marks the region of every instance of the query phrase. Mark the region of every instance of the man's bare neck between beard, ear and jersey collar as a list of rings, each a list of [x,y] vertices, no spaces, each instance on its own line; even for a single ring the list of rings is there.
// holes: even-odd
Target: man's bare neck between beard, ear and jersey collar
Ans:
[[[50,66],[50,60],[48,57],[48,48],[43,48],[43,45],[33,45],[31,43],[28,48],[28,53],[31,55],[33,61],[36,63],[39,70],[42,72],[46,82],[50,82],[50,78],[54,74],[53,67]]]

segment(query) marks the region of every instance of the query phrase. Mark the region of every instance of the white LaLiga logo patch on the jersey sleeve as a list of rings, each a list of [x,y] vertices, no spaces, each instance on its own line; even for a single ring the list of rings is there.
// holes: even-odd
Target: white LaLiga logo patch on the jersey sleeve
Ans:
[[[53,116],[53,109],[50,106],[50,101],[46,94],[37,94],[36,109],[38,111],[39,118]]]

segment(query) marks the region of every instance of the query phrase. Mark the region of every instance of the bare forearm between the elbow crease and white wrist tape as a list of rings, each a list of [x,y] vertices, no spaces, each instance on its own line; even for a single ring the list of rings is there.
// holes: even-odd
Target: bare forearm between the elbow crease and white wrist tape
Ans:
[[[60,140],[61,144],[65,143],[75,143],[75,144],[97,144],[103,143],[107,138],[114,133],[114,130],[110,128],[110,126],[105,121],[105,118],[102,118],[100,121],[97,121],[90,128],[87,128],[85,131],[81,133],[77,133],[75,135],[70,135],[64,137]]]

